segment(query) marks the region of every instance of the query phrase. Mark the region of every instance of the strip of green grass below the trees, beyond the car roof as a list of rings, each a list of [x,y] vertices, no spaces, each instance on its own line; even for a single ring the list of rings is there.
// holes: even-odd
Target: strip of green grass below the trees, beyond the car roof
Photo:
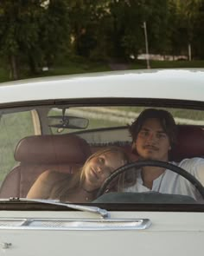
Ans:
[[[131,61],[127,63],[127,67],[128,69],[146,69],[146,61]],[[204,68],[204,61],[150,61],[150,67],[151,69]],[[85,58],[74,57],[72,59],[58,60],[48,71],[39,70],[35,75],[30,75],[28,69],[23,69],[19,78],[26,79],[41,76],[82,74],[101,71],[111,71],[108,62],[91,62]],[[3,67],[3,63],[0,63],[0,82],[6,81],[10,81],[10,72]]]

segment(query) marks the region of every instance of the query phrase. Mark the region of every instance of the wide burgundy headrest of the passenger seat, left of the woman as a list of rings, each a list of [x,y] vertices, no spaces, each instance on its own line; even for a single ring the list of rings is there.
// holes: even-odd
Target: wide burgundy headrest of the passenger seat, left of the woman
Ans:
[[[84,163],[91,154],[89,144],[76,135],[34,135],[16,146],[15,159],[26,163]]]

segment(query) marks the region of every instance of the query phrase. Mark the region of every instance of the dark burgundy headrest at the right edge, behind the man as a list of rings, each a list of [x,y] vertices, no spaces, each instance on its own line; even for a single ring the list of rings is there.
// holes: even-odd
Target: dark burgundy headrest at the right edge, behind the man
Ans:
[[[204,157],[204,128],[178,126],[178,143],[171,152],[171,160],[181,161],[195,156]]]

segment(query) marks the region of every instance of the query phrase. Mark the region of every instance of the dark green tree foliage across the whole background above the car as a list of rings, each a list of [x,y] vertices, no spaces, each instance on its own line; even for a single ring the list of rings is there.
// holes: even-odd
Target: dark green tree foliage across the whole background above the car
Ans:
[[[72,56],[123,62],[145,52],[144,22],[151,54],[204,57],[204,0],[1,0],[0,56],[14,79]]]

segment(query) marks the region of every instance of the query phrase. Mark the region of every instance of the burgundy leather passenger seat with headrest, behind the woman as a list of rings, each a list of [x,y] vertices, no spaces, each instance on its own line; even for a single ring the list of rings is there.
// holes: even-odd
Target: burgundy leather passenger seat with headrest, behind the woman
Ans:
[[[29,188],[45,170],[72,174],[90,156],[88,143],[76,135],[36,135],[18,142],[19,164],[6,176],[0,198],[26,197]]]

